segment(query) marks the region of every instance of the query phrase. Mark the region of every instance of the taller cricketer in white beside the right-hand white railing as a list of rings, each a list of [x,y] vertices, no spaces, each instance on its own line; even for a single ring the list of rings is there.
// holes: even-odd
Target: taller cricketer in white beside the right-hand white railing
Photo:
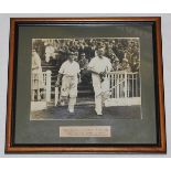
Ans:
[[[109,58],[104,56],[104,49],[97,50],[97,56],[92,58],[88,64],[88,71],[92,72],[93,87],[95,92],[95,110],[97,115],[103,115],[103,96],[109,89],[109,81],[106,72],[111,71]]]

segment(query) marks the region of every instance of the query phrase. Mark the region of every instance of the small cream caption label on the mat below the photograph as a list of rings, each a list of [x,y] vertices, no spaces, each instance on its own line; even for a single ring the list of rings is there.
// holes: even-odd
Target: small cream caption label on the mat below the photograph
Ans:
[[[60,127],[60,137],[111,137],[110,126]]]

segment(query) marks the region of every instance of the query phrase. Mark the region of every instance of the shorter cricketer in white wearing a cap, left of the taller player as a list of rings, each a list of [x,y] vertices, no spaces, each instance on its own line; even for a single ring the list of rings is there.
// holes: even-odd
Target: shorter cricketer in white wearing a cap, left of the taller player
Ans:
[[[74,61],[75,53],[70,52],[68,55],[68,60],[62,64],[58,71],[56,86],[60,86],[60,79],[62,78],[61,98],[63,100],[67,100],[67,97],[70,97],[68,111],[74,113],[74,106],[76,104],[77,97],[77,84],[81,71],[79,64]]]

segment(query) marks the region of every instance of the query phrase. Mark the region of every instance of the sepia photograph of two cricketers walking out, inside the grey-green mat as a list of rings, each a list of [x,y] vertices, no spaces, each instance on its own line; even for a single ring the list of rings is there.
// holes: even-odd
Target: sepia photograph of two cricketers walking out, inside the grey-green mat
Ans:
[[[30,120],[143,119],[140,38],[32,39]]]

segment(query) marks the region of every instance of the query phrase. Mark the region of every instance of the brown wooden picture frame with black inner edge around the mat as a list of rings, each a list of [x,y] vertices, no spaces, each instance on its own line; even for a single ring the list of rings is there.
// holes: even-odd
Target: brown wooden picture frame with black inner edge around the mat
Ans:
[[[156,105],[158,107],[157,130],[158,142],[156,145],[15,145],[13,142],[15,125],[14,120],[14,101],[13,87],[17,79],[15,67],[17,65],[17,25],[22,24],[54,24],[57,22],[63,23],[98,23],[98,22],[119,22],[119,23],[148,23],[153,24],[156,47],[154,53],[154,74],[156,79]],[[8,78],[8,108],[7,108],[7,137],[6,137],[6,152],[8,153],[45,153],[45,152],[74,152],[74,153],[113,153],[113,152],[141,152],[141,153],[165,153],[165,120],[164,120],[164,94],[163,94],[163,72],[162,72],[162,44],[161,44],[161,19],[159,17],[149,18],[13,18],[10,25],[10,56],[9,56],[9,78]],[[150,82],[150,81],[149,81]]]

